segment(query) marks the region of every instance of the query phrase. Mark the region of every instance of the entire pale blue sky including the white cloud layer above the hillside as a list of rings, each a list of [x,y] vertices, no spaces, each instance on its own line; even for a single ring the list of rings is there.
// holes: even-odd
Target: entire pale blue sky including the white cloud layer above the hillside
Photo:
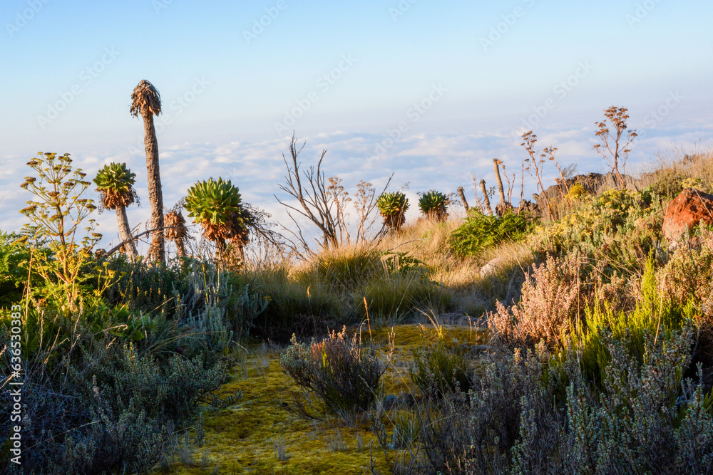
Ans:
[[[207,160],[207,176],[230,162],[241,189],[278,215],[292,129],[314,152],[332,150],[334,174],[396,172],[414,192],[453,191],[467,184],[454,177],[487,179],[492,156],[519,168],[525,127],[558,140],[563,162],[601,171],[593,123],[623,105],[646,132],[632,152],[644,162],[711,138],[711,18],[710,2],[666,0],[5,0],[0,229],[20,222],[16,182],[39,150],[71,152],[89,172],[126,161],[142,179],[143,129],[128,113],[141,79],[163,97],[165,169],[178,155]],[[370,160],[399,122],[408,130]],[[233,155],[216,161],[220,150]],[[171,192],[207,177],[198,170]]]

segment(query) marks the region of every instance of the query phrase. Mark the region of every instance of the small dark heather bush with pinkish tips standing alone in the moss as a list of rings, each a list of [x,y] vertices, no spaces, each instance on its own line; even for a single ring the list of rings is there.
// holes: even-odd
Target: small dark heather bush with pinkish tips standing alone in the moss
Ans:
[[[321,342],[292,345],[279,358],[294,382],[314,392],[330,412],[342,417],[369,409],[381,393],[384,367],[359,335],[332,333]]]

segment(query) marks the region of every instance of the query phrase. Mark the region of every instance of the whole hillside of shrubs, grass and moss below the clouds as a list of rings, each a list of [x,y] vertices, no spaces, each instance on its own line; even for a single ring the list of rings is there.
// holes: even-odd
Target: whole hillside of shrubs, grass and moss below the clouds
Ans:
[[[560,169],[546,220],[504,198],[502,216],[449,220],[448,195],[428,192],[406,222],[403,192],[352,196],[318,168],[304,179],[329,186],[304,213],[353,199],[361,214],[358,231],[325,218],[317,250],[267,231],[232,183],[199,182],[202,241],[184,226],[167,234],[178,255],[149,260],[95,249],[86,174],[40,154],[28,225],[0,233],[0,409],[24,388],[23,465],[6,417],[0,471],[710,473],[713,231],[672,251],[661,230],[680,189],[713,188],[710,160],[640,180],[615,162],[596,193]],[[109,172],[133,193],[128,169]]]

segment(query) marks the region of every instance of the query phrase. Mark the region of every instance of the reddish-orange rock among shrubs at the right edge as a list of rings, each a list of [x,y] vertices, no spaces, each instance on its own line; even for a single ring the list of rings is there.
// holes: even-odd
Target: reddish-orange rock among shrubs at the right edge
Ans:
[[[674,249],[701,221],[713,225],[713,195],[686,188],[666,207],[661,230],[669,241],[669,249]]]

